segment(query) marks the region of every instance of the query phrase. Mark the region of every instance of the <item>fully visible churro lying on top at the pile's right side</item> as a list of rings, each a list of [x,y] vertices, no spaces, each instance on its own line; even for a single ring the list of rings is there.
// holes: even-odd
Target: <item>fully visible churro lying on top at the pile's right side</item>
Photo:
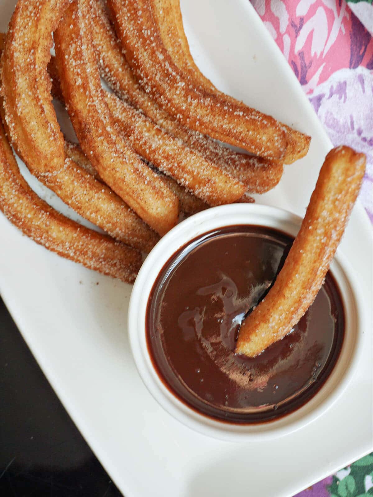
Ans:
[[[196,88],[174,64],[162,43],[151,1],[110,0],[108,6],[127,61],[157,103],[192,129],[263,157],[286,159],[286,134],[280,123]]]

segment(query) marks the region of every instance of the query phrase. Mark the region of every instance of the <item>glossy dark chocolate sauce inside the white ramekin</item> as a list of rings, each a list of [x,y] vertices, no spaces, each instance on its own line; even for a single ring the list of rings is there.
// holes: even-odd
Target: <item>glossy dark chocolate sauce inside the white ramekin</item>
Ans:
[[[273,420],[302,406],[328,378],[345,325],[330,273],[294,331],[255,358],[234,353],[245,313],[268,292],[291,243],[265,227],[222,228],[175,253],[154,283],[146,315],[153,364],[199,413],[234,423]]]

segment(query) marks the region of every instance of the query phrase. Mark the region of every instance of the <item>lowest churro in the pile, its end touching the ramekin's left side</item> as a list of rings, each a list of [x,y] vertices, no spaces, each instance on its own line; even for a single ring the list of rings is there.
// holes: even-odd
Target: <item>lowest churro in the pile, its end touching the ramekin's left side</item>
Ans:
[[[0,210],[36,243],[89,269],[131,283],[141,266],[137,250],[71,221],[31,190],[19,172],[1,121]]]

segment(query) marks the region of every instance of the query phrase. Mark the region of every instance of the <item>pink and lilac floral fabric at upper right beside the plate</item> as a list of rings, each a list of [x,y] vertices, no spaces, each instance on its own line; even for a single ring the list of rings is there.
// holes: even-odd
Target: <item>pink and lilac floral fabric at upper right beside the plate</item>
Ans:
[[[251,0],[334,145],[367,155],[360,200],[372,215],[370,32],[345,0]],[[372,8],[372,5],[369,5]]]

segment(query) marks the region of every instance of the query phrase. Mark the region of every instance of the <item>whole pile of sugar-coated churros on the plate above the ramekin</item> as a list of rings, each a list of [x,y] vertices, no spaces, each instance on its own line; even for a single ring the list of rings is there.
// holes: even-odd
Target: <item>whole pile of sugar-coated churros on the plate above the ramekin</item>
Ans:
[[[201,74],[179,0],[18,0],[0,45],[0,209],[35,242],[123,281],[181,214],[252,201],[308,151],[310,137]],[[65,139],[52,97],[79,144]],[[105,234],[42,201],[9,144]]]

